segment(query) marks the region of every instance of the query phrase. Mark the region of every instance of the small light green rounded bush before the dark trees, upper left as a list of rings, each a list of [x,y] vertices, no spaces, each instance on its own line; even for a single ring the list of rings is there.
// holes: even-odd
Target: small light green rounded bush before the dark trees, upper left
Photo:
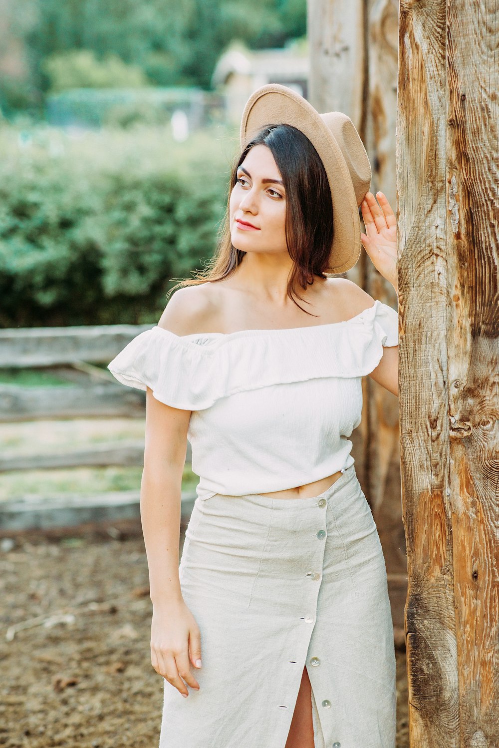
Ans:
[[[68,88],[134,88],[149,85],[146,74],[137,65],[127,65],[117,55],[99,60],[90,49],[54,52],[42,64],[49,79],[49,91]]]

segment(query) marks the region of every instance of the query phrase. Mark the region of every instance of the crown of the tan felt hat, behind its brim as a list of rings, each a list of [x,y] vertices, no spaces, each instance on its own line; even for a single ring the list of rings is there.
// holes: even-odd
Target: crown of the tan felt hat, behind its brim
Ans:
[[[332,132],[347,164],[352,178],[357,205],[360,206],[371,186],[371,164],[368,154],[350,117],[342,111],[329,111],[320,114],[320,119]]]

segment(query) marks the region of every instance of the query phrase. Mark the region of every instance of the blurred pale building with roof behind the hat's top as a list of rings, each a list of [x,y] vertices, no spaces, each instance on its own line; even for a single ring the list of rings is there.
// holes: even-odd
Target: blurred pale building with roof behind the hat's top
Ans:
[[[247,49],[233,43],[220,57],[211,79],[225,99],[226,117],[237,125],[249,96],[267,83],[280,83],[307,98],[309,51],[303,40],[282,49]]]

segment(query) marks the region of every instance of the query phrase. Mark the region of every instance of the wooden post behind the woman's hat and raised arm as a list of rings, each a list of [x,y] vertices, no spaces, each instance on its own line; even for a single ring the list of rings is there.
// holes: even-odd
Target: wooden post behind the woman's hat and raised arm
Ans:
[[[309,0],[308,10],[311,102],[318,111],[344,111],[353,120],[371,161],[371,191],[381,189],[395,207],[398,1]],[[393,289],[365,251],[346,275],[397,308]],[[378,527],[398,640],[407,592],[398,401],[368,377],[362,390],[362,422],[353,432],[352,452]]]

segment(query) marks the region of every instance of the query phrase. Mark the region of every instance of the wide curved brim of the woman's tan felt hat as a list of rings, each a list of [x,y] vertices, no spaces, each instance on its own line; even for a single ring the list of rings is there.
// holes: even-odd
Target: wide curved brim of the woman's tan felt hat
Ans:
[[[241,147],[264,126],[273,124],[296,127],[317,150],[331,189],[334,221],[329,266],[324,272],[350,270],[360,257],[361,227],[356,194],[338,142],[303,96],[278,84],[262,86],[249,97],[241,118]]]

